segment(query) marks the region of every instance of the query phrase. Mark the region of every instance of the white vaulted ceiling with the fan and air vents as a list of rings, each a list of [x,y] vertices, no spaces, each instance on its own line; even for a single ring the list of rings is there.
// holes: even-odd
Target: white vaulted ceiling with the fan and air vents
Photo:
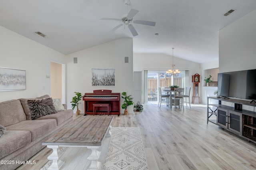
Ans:
[[[134,53],[164,53],[205,63],[218,59],[218,31],[256,9],[256,0],[130,0],[139,10],[138,36],[120,27],[124,0],[0,0],[0,25],[64,54],[119,38],[133,38]],[[236,11],[223,16],[230,9]],[[46,34],[42,38],[34,32]],[[154,34],[158,33],[159,36]]]

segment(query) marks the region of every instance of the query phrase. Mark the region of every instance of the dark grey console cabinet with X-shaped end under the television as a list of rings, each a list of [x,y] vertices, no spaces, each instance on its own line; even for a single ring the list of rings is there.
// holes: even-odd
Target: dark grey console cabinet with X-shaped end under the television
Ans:
[[[223,101],[234,107],[222,104]],[[255,107],[256,103],[233,98],[207,97],[207,124],[214,123],[256,143],[256,112],[243,110],[243,105]]]

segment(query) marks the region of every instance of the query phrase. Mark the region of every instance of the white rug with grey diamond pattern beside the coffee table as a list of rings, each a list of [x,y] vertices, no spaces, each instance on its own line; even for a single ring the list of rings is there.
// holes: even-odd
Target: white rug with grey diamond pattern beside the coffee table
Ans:
[[[102,170],[148,170],[140,128],[112,127]]]

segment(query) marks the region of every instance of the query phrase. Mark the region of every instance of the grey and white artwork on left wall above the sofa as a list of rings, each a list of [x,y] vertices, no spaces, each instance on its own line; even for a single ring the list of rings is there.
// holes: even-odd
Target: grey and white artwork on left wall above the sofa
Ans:
[[[26,71],[0,67],[0,91],[25,89]]]

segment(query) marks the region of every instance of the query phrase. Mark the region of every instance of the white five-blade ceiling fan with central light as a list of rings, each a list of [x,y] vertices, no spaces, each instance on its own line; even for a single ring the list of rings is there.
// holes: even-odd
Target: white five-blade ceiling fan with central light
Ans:
[[[124,3],[126,4],[126,6],[128,7],[128,5],[130,4],[130,0],[124,0]],[[147,26],[155,26],[156,22],[152,22],[152,21],[144,21],[144,20],[133,20],[133,17],[138,13],[138,10],[135,9],[131,9],[130,12],[128,14],[124,14],[122,15],[121,19],[117,19],[117,18],[100,18],[100,20],[115,20],[115,21],[121,21],[123,22],[122,24],[119,24],[118,26],[114,27],[112,30],[110,30],[110,32],[114,32],[115,30],[117,30],[118,28],[120,28],[121,26],[125,26],[127,25],[130,32],[132,33],[133,36],[138,36],[138,33],[136,32],[134,26],[132,26],[132,22],[134,24],[142,24],[142,25],[147,25]]]

